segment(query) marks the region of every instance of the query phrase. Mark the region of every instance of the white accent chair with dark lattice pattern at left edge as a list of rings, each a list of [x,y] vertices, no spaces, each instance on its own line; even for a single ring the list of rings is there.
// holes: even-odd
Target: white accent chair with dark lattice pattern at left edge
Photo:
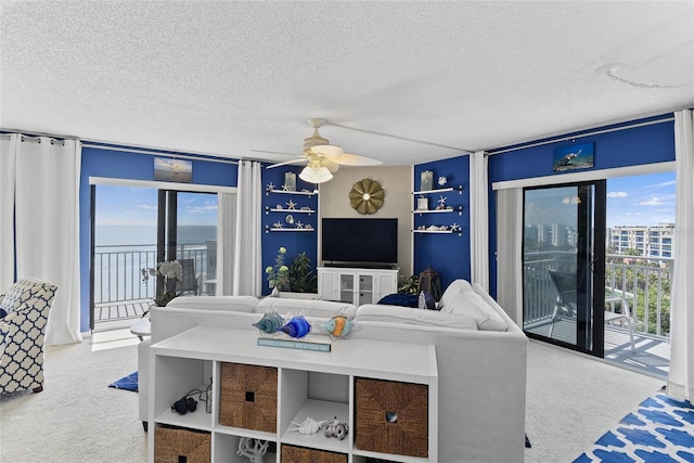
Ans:
[[[23,279],[0,295],[0,394],[43,390],[43,337],[56,291]]]

